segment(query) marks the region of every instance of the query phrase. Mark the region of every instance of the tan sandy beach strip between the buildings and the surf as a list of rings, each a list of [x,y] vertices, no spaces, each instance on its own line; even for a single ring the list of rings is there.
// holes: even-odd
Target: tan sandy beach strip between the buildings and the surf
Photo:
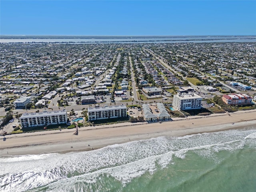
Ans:
[[[211,116],[174,118],[170,122],[122,123],[79,128],[6,135],[0,140],[0,156],[95,150],[112,144],[132,142],[159,136],[184,136],[256,126],[256,110]]]

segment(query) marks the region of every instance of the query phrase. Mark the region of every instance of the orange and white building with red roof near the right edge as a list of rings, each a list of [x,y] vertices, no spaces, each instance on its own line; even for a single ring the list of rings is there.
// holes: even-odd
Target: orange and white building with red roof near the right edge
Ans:
[[[252,97],[246,94],[223,95],[222,100],[228,105],[252,104]]]

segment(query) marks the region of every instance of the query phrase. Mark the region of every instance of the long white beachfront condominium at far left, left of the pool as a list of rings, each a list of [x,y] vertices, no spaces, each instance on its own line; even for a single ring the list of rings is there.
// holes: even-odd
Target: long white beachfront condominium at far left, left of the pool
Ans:
[[[33,126],[47,126],[50,124],[67,123],[68,116],[66,110],[63,111],[44,111],[39,113],[24,113],[20,117],[22,128]]]

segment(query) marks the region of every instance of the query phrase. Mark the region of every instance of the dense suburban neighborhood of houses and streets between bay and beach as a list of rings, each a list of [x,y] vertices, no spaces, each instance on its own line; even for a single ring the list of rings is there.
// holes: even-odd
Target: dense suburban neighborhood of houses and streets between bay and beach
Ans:
[[[2,43],[6,134],[256,108],[255,43]]]

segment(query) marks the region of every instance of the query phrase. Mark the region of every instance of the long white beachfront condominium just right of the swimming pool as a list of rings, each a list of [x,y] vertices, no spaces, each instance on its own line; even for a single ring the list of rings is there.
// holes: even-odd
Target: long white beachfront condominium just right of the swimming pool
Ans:
[[[127,108],[123,104],[118,106],[106,105],[105,107],[94,107],[87,109],[87,116],[89,121],[126,117],[126,114]]]

